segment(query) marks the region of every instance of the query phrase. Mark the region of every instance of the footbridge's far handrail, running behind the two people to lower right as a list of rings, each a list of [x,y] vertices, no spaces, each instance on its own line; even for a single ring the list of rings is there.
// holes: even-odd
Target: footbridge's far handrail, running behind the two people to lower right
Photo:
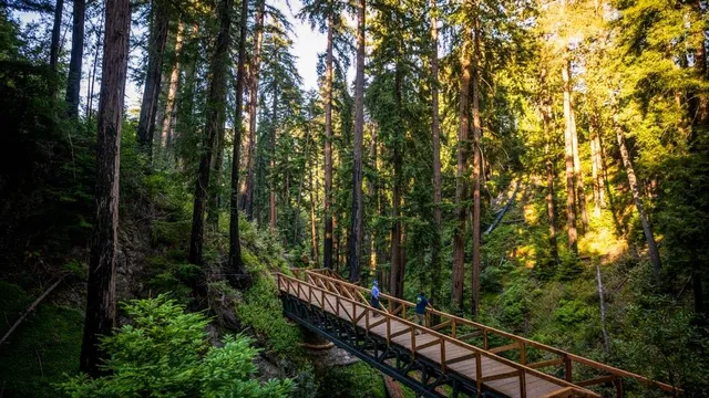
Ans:
[[[305,271],[306,274],[309,274],[311,276],[315,275],[316,277],[321,277],[321,279],[328,280],[333,284],[345,285],[345,286],[349,287],[350,290],[358,290],[358,291],[360,291],[360,293],[363,293],[363,292],[369,293],[370,292],[370,290],[367,289],[367,287],[359,286],[359,285],[349,283],[349,282],[340,280],[340,279],[330,277],[330,276],[327,276],[327,275],[325,275],[323,273],[320,273],[320,272],[311,272],[311,270],[308,270],[308,269],[299,270],[299,271]],[[410,307],[410,308],[415,307],[415,304],[412,303],[412,302],[409,302],[409,301],[405,301],[405,300],[402,300],[402,298],[398,298],[398,297],[394,297],[394,296],[391,296],[391,295],[388,295],[388,294],[384,294],[384,293],[380,293],[380,298],[386,298],[388,301],[388,303],[389,303],[388,313],[392,313],[392,315],[395,315],[397,313],[399,313],[400,310],[399,308],[392,308],[391,303],[395,303],[397,305],[402,306],[402,308],[403,308],[403,311],[402,311],[403,312],[403,318],[405,318],[407,307]],[[451,329],[452,329],[451,335],[452,335],[453,338],[459,338],[456,336],[456,326],[460,326],[460,325],[471,326],[471,327],[474,327],[474,328],[477,328],[477,329],[482,331],[483,332],[483,344],[484,344],[484,347],[482,349],[484,349],[484,350],[495,349],[495,348],[489,348],[489,346],[487,346],[487,334],[489,333],[492,333],[492,334],[495,334],[495,335],[499,335],[499,336],[506,337],[506,338],[515,341],[515,344],[512,344],[510,346],[496,347],[496,348],[506,348],[506,349],[501,349],[501,350],[497,350],[497,352],[507,350],[507,349],[521,349],[521,363],[522,363],[522,365],[525,365],[525,366],[526,365],[532,365],[532,366],[537,366],[537,367],[542,368],[542,367],[545,367],[545,366],[561,365],[563,363],[565,365],[565,367],[566,367],[566,381],[569,381],[569,383],[572,381],[571,380],[572,363],[576,362],[576,363],[589,366],[589,367],[592,367],[592,368],[594,368],[596,370],[607,371],[607,373],[609,373],[609,374],[612,374],[612,375],[614,375],[616,377],[631,378],[631,379],[635,379],[635,380],[637,380],[637,381],[639,381],[641,384],[645,384],[647,386],[658,386],[659,388],[661,388],[662,390],[668,391],[668,392],[681,394],[680,389],[678,389],[678,388],[676,388],[676,387],[674,387],[671,385],[668,385],[668,384],[665,384],[665,383],[661,383],[661,381],[650,380],[647,377],[634,374],[631,371],[627,371],[627,370],[624,370],[624,369],[620,369],[620,368],[617,368],[617,367],[614,367],[614,366],[610,366],[610,365],[606,365],[606,364],[603,364],[603,363],[599,363],[599,362],[596,362],[596,360],[593,360],[593,359],[588,359],[588,358],[582,357],[579,355],[572,354],[572,353],[565,352],[563,349],[558,349],[558,348],[555,348],[555,347],[548,346],[546,344],[538,343],[538,342],[535,342],[535,341],[532,341],[532,339],[528,339],[528,338],[525,338],[525,337],[522,337],[522,336],[517,336],[517,335],[514,335],[514,334],[508,333],[508,332],[504,332],[504,331],[501,331],[501,329],[497,329],[497,328],[494,328],[494,327],[490,327],[490,326],[480,324],[480,323],[474,322],[474,321],[470,321],[470,320],[462,318],[460,316],[451,315],[449,313],[444,313],[442,311],[439,311],[439,310],[435,310],[435,308],[432,308],[432,307],[427,307],[427,325],[430,324],[430,316],[431,315],[438,315],[441,318],[448,318],[445,322],[442,322],[441,324],[445,324],[445,326],[448,326],[446,322],[450,322]],[[441,324],[439,324],[439,325],[441,325]],[[433,326],[434,329],[435,329],[436,326]],[[442,329],[445,326],[439,326],[438,329]],[[517,347],[512,347],[513,345],[516,345]],[[531,346],[531,347],[538,348],[538,349],[548,352],[551,354],[557,355],[557,356],[561,357],[559,360],[562,360],[562,363],[555,363],[555,360],[544,360],[544,362],[540,362],[540,363],[536,363],[536,364],[526,364],[526,358],[525,358],[526,346]],[[587,385],[592,385],[592,384],[599,384],[599,383],[604,383],[604,381],[608,381],[608,380],[604,380],[603,378],[597,378],[597,379],[584,380],[584,381],[585,383],[590,383],[590,384],[587,384]],[[584,381],[580,381],[580,383],[584,383]],[[598,383],[593,383],[593,381],[598,381]],[[621,387],[619,387],[619,388],[621,388]],[[621,392],[619,392],[619,395],[621,395]]]

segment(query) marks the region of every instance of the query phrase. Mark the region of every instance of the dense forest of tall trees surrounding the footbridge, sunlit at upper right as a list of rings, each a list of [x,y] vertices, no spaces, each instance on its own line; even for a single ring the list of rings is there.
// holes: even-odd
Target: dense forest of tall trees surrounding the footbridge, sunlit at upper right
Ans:
[[[182,310],[285,380],[254,396],[382,396],[300,347],[289,266],[709,395],[707,8],[1,2],[0,333],[52,292],[0,346],[0,396],[110,389],[69,377],[141,347],[99,336],[207,325]],[[315,91],[294,15],[327,38]]]

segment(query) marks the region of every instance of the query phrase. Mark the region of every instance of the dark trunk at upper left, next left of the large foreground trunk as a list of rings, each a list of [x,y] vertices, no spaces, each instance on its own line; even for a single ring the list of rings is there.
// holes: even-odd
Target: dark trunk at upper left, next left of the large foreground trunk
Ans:
[[[66,116],[75,119],[79,116],[79,92],[81,91],[81,64],[84,56],[84,18],[86,0],[73,0],[73,21],[71,31],[71,59],[69,77],[66,78]]]

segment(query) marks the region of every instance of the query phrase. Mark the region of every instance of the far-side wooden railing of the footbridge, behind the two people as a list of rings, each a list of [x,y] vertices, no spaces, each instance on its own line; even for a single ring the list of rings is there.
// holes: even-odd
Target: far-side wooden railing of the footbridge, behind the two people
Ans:
[[[331,271],[330,271],[331,272]],[[358,286],[341,279],[328,276],[325,272],[299,270],[299,274],[304,275],[306,282],[314,285],[318,285],[323,289],[328,289],[333,293],[341,294],[343,296],[359,297],[362,303],[367,303],[370,291],[366,287]],[[415,304],[405,300],[401,300],[388,294],[380,294],[380,305],[382,310],[392,316],[398,316],[405,321],[411,321],[410,315],[413,314]],[[432,320],[438,320],[435,325],[432,325]],[[599,362],[588,359],[565,350],[528,339],[512,333],[496,329],[470,320],[465,320],[455,315],[438,311],[433,307],[428,307],[425,312],[425,326],[436,331],[441,334],[448,335],[454,338],[456,342],[469,342],[466,344],[475,345],[485,352],[492,354],[508,353],[516,355],[510,355],[514,357],[517,364],[524,365],[533,369],[542,369],[552,366],[563,366],[564,380],[573,383],[575,386],[589,387],[604,383],[613,383],[616,388],[616,396],[624,396],[623,379],[633,379],[645,386],[656,386],[667,392],[671,392],[676,396],[681,394],[681,390],[675,388],[671,385],[654,381],[647,377],[616,368]],[[475,343],[470,343],[475,341]],[[503,344],[500,345],[500,342]],[[493,344],[497,343],[497,344]],[[506,344],[504,344],[506,343]],[[551,355],[551,358],[540,358],[537,362],[530,362],[531,352],[538,350],[543,354]],[[505,354],[505,355],[508,355]],[[584,365],[596,371],[602,373],[597,377],[589,379],[573,381],[574,365]]]

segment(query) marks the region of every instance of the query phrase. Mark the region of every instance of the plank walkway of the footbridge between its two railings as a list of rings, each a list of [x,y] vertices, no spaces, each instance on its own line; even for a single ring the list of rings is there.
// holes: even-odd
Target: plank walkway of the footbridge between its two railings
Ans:
[[[425,328],[412,327],[410,322],[381,314],[374,316],[371,307],[361,305],[341,296],[318,289],[307,283],[288,283],[279,279],[279,290],[318,306],[346,321],[356,322],[369,333],[389,339],[403,348],[415,352],[417,355],[445,366],[448,371],[455,371],[471,380],[481,383],[489,389],[493,389],[508,397],[544,397],[555,396],[555,392],[568,392],[568,384],[563,380],[554,380],[537,377],[534,374],[522,371],[517,366],[513,367],[504,358],[483,356],[469,348],[464,343],[442,339],[438,333]],[[415,331],[415,333],[414,333]],[[444,347],[441,347],[444,344]],[[480,375],[477,369],[480,360]],[[551,378],[551,377],[549,377]],[[523,384],[523,386],[522,386]],[[575,392],[594,396],[592,391],[578,389]],[[588,394],[586,394],[588,392]]]

